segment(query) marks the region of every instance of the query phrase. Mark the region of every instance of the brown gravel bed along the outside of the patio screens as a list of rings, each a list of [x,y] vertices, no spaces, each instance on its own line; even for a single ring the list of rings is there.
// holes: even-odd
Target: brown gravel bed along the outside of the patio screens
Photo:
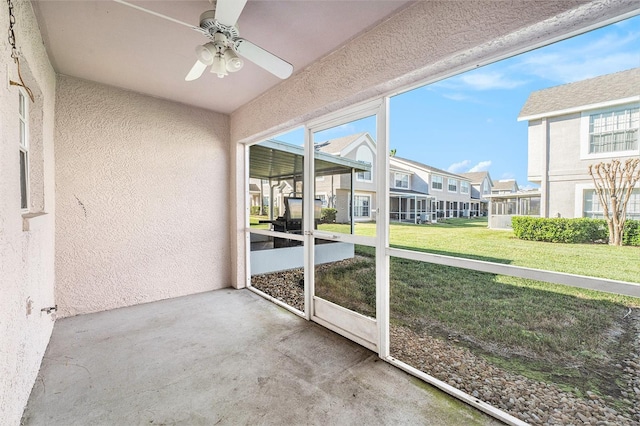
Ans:
[[[304,309],[302,269],[254,276],[251,284],[284,303]],[[640,312],[636,324],[635,350],[622,364],[621,397],[614,401],[587,392],[581,398],[558,386],[506,372],[456,345],[409,328],[391,326],[391,354],[415,368],[454,386],[533,425],[640,425]],[[617,402],[618,408],[612,404]]]

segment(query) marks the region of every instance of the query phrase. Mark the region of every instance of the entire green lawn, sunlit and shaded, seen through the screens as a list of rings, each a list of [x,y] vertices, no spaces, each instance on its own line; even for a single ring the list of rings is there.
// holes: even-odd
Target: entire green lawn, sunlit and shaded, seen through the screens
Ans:
[[[344,225],[321,225],[340,232]],[[356,224],[371,235],[375,224]],[[640,249],[515,239],[486,220],[437,225],[393,224],[391,245],[424,252],[638,282]],[[318,268],[321,297],[375,315],[375,260],[356,246],[356,260]],[[623,362],[634,351],[629,308],[640,299],[575,287],[391,258],[391,318],[396,325],[448,339],[491,363],[534,380],[612,398]]]

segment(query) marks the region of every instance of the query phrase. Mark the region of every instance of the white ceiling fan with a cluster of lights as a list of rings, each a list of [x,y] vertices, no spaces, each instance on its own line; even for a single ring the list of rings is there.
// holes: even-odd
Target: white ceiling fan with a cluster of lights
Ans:
[[[293,72],[293,65],[287,61],[240,37],[237,22],[247,0],[217,0],[214,10],[207,10],[200,15],[200,26],[198,27],[128,3],[125,0],[114,1],[189,27],[209,39],[209,42],[196,47],[198,59],[185,77],[186,81],[199,78],[208,66],[211,67],[211,73],[223,78],[228,73],[239,71],[242,68],[244,65],[242,58],[250,60],[283,80]],[[209,0],[209,2],[212,1]]]

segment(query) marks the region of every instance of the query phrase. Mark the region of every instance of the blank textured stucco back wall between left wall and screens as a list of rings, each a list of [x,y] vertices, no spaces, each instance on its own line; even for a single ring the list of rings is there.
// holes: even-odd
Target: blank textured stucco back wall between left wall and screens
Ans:
[[[228,116],[65,76],[56,95],[60,315],[229,286]]]

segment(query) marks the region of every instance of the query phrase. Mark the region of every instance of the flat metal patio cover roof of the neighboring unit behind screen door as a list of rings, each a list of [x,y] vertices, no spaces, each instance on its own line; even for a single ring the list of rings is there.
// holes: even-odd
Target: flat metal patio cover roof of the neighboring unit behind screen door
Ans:
[[[249,177],[256,179],[301,178],[304,147],[269,140],[249,147]],[[361,161],[315,151],[316,176],[371,171],[371,165]]]

